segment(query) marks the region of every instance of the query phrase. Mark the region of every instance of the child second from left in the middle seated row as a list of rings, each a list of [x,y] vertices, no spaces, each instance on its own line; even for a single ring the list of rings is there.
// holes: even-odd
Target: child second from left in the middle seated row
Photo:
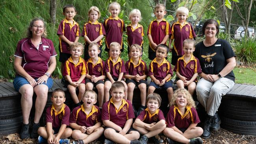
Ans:
[[[86,61],[87,75],[85,85],[87,90],[93,90],[93,87],[96,87],[98,90],[99,107],[102,109],[104,101],[104,79],[106,78],[105,62],[98,57],[100,49],[97,43],[94,42],[89,45],[88,53],[91,58]]]

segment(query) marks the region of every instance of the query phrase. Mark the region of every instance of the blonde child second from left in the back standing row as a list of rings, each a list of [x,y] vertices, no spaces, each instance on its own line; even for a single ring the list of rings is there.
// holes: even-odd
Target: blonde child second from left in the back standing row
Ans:
[[[88,54],[89,44],[96,42],[100,46],[100,53],[98,54],[101,57],[102,51],[102,38],[106,35],[104,26],[98,22],[98,18],[100,18],[100,10],[96,6],[92,6],[88,11],[89,22],[84,24],[82,37],[85,40],[85,48],[84,48],[84,59],[87,61],[90,56]]]

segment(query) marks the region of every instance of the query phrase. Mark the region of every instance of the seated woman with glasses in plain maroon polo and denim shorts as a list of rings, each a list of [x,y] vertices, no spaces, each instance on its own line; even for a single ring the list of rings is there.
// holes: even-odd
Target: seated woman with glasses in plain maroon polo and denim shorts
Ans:
[[[56,51],[53,42],[46,39],[46,24],[42,18],[34,18],[27,30],[27,38],[20,40],[15,51],[14,68],[17,76],[13,80],[14,88],[21,94],[23,116],[20,138],[37,138],[39,120],[45,108],[48,89],[52,87],[50,75],[56,67]],[[29,135],[29,116],[35,101],[35,118]]]

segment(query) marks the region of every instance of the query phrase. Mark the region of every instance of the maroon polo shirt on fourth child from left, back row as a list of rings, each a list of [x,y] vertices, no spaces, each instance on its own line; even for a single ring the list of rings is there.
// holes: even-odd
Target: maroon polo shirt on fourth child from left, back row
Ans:
[[[127,41],[128,41],[129,47],[131,47],[132,44],[139,44],[140,46],[142,46],[143,36],[144,36],[143,26],[138,24],[138,26],[134,29],[132,27],[132,24],[130,24],[126,27],[126,29],[127,29],[127,36],[128,36]]]

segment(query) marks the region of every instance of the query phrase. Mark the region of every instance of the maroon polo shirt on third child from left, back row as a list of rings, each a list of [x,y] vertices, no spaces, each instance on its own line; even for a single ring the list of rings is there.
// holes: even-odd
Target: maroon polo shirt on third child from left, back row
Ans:
[[[125,31],[124,20],[119,17],[112,18],[111,16],[104,21],[103,24],[106,36],[106,48],[109,49],[111,42],[118,42],[122,49],[122,32]]]

